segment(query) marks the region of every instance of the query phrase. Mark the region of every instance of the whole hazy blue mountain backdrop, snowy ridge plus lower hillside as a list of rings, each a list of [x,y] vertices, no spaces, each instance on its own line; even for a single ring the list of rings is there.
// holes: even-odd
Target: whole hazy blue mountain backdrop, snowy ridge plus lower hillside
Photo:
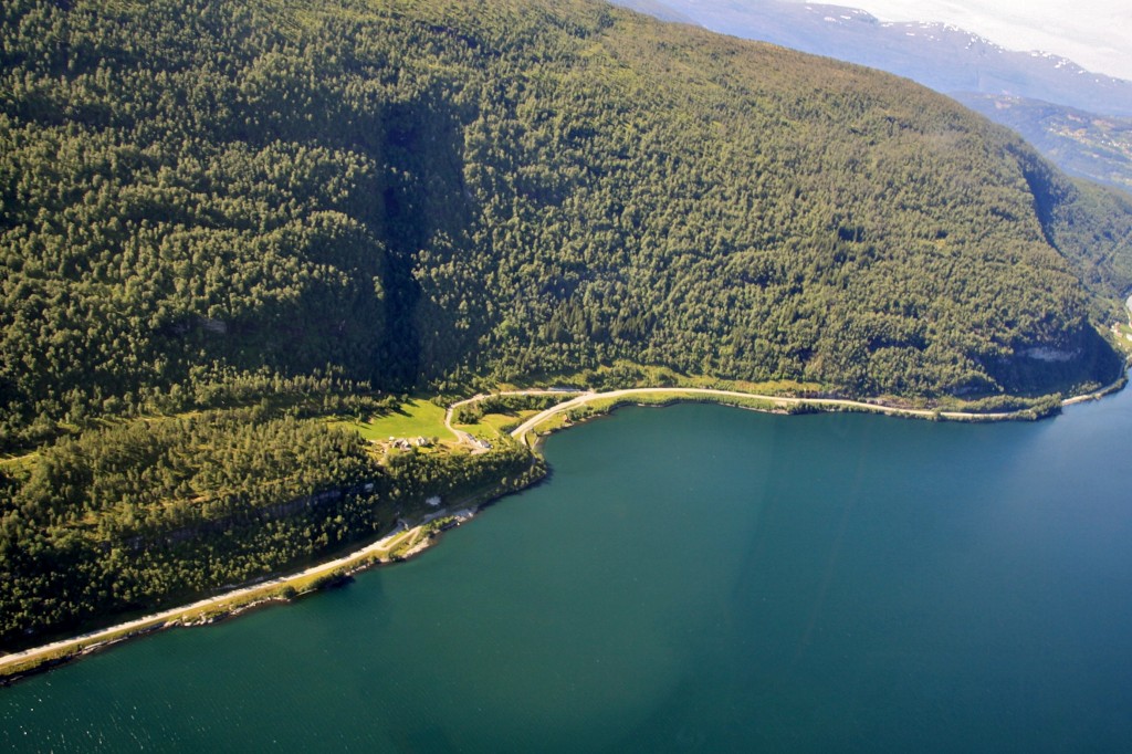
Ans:
[[[1072,60],[1004,50],[947,24],[884,23],[867,11],[789,0],[614,0],[666,20],[886,70],[1013,128],[1062,169],[1132,190],[1132,82]],[[1096,114],[1104,113],[1104,114]],[[1088,123],[1088,126],[1084,126]]]

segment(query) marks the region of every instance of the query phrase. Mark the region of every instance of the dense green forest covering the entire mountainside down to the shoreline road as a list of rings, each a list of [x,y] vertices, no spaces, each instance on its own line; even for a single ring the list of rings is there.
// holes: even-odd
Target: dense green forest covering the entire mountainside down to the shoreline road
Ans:
[[[909,82],[594,0],[6,0],[0,260],[8,641],[530,466],[318,419],[391,392],[1109,382],[1132,206]]]

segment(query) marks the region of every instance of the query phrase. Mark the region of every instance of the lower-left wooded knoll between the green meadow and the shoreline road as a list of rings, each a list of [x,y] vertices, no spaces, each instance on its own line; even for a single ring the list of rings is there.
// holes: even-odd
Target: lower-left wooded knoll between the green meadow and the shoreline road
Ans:
[[[430,497],[542,473],[517,445],[386,463],[366,445],[252,409],[120,422],[44,448],[5,490],[0,646],[263,577],[374,539]]]

